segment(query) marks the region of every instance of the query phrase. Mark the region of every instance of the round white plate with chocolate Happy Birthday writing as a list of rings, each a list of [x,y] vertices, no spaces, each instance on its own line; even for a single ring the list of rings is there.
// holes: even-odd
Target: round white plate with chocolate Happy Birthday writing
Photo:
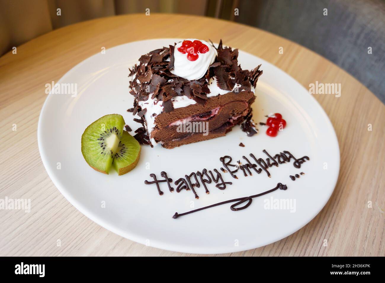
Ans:
[[[132,120],[132,113],[126,112],[133,102],[128,90],[128,68],[142,54],[177,41],[154,39],[119,45],[84,60],[59,80],[58,83],[76,83],[78,94],[49,94],[42,108],[39,150],[50,178],[71,204],[96,223],[156,248],[230,253],[289,236],[313,219],[330,198],[340,167],[338,141],[325,112],[305,88],[282,70],[246,52],[239,51],[242,68],[250,70],[262,64],[263,70],[256,87],[254,121],[264,122],[264,115],[281,113],[287,127],[277,137],[268,137],[266,126],[259,125],[259,133],[247,137],[236,126],[226,137],[174,149],[142,146],[137,167],[123,176],[117,176],[113,169],[109,175],[101,174],[84,161],[80,138],[84,129],[99,117],[118,113],[133,130],[139,125]],[[245,147],[238,146],[240,142]],[[306,155],[310,160],[300,169],[293,166],[293,161],[273,166],[269,169],[271,178],[264,173],[244,177],[239,171],[238,179],[234,179],[220,171],[219,157],[229,155],[238,161],[253,153],[267,158],[263,149],[270,154],[290,151],[297,158]],[[164,195],[159,196],[155,185],[144,184],[144,180],[152,180],[150,173],[162,179],[160,172],[166,171],[175,181],[203,168],[218,169],[224,181],[233,184],[225,190],[208,184],[210,194],[205,194],[201,186],[197,188],[198,200],[192,191],[169,192],[165,183],[161,184]],[[289,178],[300,172],[305,174],[299,179]],[[250,196],[267,191],[278,182],[287,184],[288,189],[254,198],[247,209],[231,211],[231,204],[225,204],[172,218],[176,211],[189,211],[192,205],[200,208]],[[265,209],[264,204],[271,197],[295,200],[295,212]]]

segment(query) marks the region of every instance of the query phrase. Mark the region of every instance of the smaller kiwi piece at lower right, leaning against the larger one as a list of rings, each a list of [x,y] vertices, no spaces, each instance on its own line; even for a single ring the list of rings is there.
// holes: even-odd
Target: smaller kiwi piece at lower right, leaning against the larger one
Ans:
[[[123,131],[112,166],[119,175],[126,174],[138,164],[140,155],[141,145],[139,142],[128,132]]]

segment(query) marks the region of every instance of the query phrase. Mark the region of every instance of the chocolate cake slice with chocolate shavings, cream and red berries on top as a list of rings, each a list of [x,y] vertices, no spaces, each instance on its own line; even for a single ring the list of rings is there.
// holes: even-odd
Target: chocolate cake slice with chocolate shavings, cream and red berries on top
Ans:
[[[153,50],[130,70],[135,136],[144,144],[173,148],[224,136],[251,119],[259,67],[242,70],[238,49],[187,39]]]

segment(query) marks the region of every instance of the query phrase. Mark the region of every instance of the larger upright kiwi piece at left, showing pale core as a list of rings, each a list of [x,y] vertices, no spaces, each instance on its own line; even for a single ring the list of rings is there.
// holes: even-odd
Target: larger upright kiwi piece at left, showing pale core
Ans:
[[[82,154],[88,165],[108,174],[122,136],[122,115],[110,114],[96,120],[82,135]]]

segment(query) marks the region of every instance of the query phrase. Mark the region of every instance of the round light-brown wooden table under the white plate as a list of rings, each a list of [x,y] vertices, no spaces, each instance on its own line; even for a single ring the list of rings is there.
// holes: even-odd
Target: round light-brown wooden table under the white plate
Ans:
[[[0,256],[186,255],[132,242],[85,217],[55,188],[37,145],[46,83],[59,80],[103,46],[159,37],[223,39],[278,66],[306,89],[316,80],[341,83],[341,97],[314,95],[333,123],[341,151],[340,176],[325,208],[291,236],[231,255],[385,255],[385,107],[380,100],[325,58],[271,33],[213,18],[151,13],[70,25],[0,58],[0,199],[30,198],[32,202],[30,213],[0,210]],[[278,53],[279,47],[283,54]],[[365,56],[363,52],[362,60]]]

